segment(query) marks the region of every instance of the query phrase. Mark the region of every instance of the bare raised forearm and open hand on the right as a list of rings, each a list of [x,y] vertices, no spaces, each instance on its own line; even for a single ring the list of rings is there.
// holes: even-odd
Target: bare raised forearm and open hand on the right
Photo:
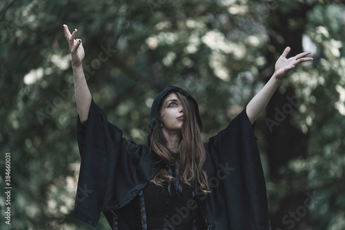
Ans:
[[[251,124],[253,124],[262,111],[264,111],[268,101],[270,101],[270,98],[273,96],[275,90],[277,90],[277,87],[284,76],[286,76],[290,70],[293,70],[293,68],[299,65],[299,63],[313,61],[313,58],[305,57],[308,54],[311,54],[311,52],[303,52],[286,59],[286,56],[290,50],[291,49],[289,47],[285,48],[283,54],[279,56],[279,59],[275,63],[275,72],[273,76],[270,77],[270,80],[266,83],[262,90],[260,90],[248,103],[246,113]]]

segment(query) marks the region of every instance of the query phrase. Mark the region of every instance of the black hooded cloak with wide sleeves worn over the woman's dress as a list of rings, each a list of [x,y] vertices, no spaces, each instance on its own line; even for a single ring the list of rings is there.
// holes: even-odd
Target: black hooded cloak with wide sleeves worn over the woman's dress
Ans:
[[[193,101],[202,127],[195,99],[170,85],[152,103],[148,134],[155,125],[159,103],[172,90]],[[154,154],[148,147],[126,140],[93,99],[87,125],[77,118],[77,134],[81,167],[74,216],[95,227],[103,211],[112,229],[144,226],[137,204],[141,191],[162,167],[155,163]],[[266,183],[246,109],[204,146],[212,192],[205,195],[197,187],[195,194],[208,229],[268,230]]]

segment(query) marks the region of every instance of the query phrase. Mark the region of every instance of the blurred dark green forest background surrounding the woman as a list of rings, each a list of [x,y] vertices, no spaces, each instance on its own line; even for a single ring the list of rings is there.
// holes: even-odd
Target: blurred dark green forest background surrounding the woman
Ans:
[[[72,216],[80,156],[63,24],[83,40],[95,102],[140,144],[166,85],[197,99],[206,141],[264,86],[286,46],[289,56],[311,51],[255,124],[270,228],[345,229],[340,0],[0,1],[0,229],[110,229],[103,215],[96,228]]]

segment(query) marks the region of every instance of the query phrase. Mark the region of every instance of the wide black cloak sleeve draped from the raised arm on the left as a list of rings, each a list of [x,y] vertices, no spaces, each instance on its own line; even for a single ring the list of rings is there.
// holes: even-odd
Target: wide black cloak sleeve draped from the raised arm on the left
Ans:
[[[92,99],[87,125],[77,118],[81,166],[74,216],[96,226],[100,211],[124,207],[159,171],[148,147],[122,137]]]

